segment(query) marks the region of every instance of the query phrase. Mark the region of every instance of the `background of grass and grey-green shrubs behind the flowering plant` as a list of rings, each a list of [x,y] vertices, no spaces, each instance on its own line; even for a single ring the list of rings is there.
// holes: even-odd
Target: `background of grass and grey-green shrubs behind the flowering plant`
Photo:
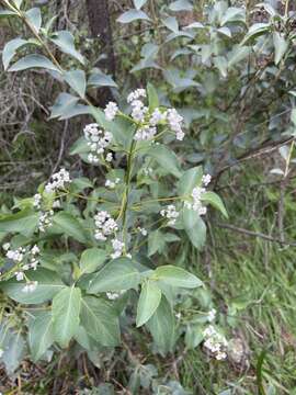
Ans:
[[[140,3],[149,20],[127,18]],[[178,157],[213,174],[229,218],[207,214],[201,251],[185,238],[174,250],[161,240],[157,246],[167,263],[178,260],[207,285],[180,307],[186,335],[172,353],[159,356],[145,330],[126,331],[115,350],[77,359],[75,349],[37,363],[16,353],[9,374],[0,365],[2,393],[296,394],[296,8],[288,0],[257,3],[23,2],[25,9],[39,7],[46,21],[55,15],[55,31],[75,35],[88,72],[100,68],[100,81],[88,90],[93,104],[121,102],[132,89],[152,82],[163,102],[180,109],[187,132]],[[0,33],[3,48],[29,30],[18,19],[1,18]],[[66,68],[76,67],[65,54],[55,56]],[[2,213],[33,195],[60,166],[100,179],[98,168],[69,155],[90,116],[53,116],[65,82],[44,69],[2,68],[0,83]],[[0,317],[18,327],[22,306],[4,294],[0,298]],[[191,312],[213,307],[231,346],[223,362],[198,341],[192,320]]]

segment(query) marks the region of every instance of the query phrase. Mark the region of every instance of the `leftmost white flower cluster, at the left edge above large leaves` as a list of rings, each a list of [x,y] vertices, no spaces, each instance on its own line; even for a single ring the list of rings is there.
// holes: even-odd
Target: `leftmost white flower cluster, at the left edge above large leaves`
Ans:
[[[38,264],[38,255],[39,248],[35,245],[32,248],[19,247],[16,249],[11,249],[10,244],[5,242],[2,246],[5,251],[8,259],[11,259],[18,264],[18,270],[15,271],[16,281],[24,280],[24,272],[29,269],[36,270]]]

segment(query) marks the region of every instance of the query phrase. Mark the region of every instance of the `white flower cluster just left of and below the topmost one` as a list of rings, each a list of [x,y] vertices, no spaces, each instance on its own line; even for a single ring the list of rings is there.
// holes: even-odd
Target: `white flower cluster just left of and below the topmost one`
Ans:
[[[110,146],[112,142],[112,134],[110,132],[104,132],[99,129],[99,125],[95,123],[89,124],[83,129],[84,137],[90,147],[90,154],[88,160],[91,163],[98,163],[100,160],[100,155],[103,155],[105,149]],[[106,160],[111,161],[113,159],[112,154],[106,155]]]

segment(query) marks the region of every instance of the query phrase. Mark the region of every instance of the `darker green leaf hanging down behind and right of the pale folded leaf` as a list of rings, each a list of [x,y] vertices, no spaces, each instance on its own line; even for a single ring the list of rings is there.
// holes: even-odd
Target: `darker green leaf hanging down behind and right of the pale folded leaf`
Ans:
[[[163,295],[147,326],[152,335],[157,350],[166,356],[171,351],[174,342],[174,318],[172,308]]]

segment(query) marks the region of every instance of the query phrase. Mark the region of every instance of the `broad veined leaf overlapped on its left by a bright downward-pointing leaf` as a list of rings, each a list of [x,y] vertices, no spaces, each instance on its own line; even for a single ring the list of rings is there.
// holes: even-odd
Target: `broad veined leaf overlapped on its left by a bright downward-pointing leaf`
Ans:
[[[110,303],[93,296],[82,298],[81,323],[87,332],[105,347],[119,343],[119,323]]]

